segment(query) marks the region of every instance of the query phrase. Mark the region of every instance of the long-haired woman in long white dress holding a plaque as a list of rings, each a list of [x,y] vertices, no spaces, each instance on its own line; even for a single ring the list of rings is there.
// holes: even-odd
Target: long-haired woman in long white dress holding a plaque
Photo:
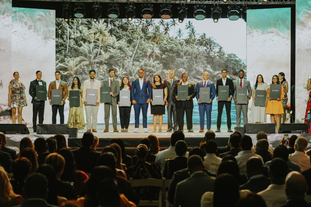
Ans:
[[[253,103],[251,107],[251,123],[266,123],[267,122],[267,115],[266,115],[266,102],[268,97],[268,86],[267,83],[263,81],[263,77],[261,74],[257,75],[256,83],[252,86],[252,98]],[[265,91],[265,92],[263,92]],[[263,104],[260,104],[259,92],[263,92],[261,97],[264,97]],[[257,94],[258,93],[258,94]],[[256,97],[258,98],[256,98]],[[257,101],[257,103],[256,103]]]

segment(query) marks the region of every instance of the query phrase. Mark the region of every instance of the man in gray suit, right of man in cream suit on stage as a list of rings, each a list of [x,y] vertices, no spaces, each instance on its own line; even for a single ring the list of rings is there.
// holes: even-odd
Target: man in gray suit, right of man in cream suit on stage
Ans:
[[[114,132],[119,132],[117,129],[117,97],[120,91],[120,83],[114,78],[115,70],[109,69],[109,78],[105,79],[103,82],[103,87],[110,87],[111,101],[110,103],[105,103],[105,130],[104,132],[109,132],[109,119],[110,119],[110,107],[112,112],[112,125]]]

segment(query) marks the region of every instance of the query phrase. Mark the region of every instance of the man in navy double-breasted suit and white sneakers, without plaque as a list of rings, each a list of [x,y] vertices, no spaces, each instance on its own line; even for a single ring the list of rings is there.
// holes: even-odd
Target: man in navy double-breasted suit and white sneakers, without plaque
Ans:
[[[142,108],[142,126],[144,128],[144,132],[148,132],[147,130],[147,110],[148,105],[150,103],[150,99],[152,97],[152,88],[150,81],[144,78],[145,71],[140,68],[138,70],[138,78],[132,82],[131,88],[131,98],[132,104],[134,105],[135,111],[135,130],[134,132],[138,132],[139,128],[139,115],[140,109]]]

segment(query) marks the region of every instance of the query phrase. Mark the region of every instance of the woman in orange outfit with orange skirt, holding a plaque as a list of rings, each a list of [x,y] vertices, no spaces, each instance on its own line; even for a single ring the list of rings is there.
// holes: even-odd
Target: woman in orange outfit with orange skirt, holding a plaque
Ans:
[[[277,75],[273,75],[272,84],[280,84],[279,77]],[[283,87],[281,87],[281,97],[272,100],[270,99],[270,88],[268,88],[268,101],[266,106],[266,114],[270,114],[271,123],[276,122],[276,131],[279,131],[279,127],[281,124],[281,115],[284,114],[283,105],[281,100],[284,98]]]

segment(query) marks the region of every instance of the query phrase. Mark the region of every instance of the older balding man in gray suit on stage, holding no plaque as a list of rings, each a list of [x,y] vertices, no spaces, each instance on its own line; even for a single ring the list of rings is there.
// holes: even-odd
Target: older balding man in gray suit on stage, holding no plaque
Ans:
[[[175,132],[177,130],[177,118],[176,118],[176,99],[172,98],[174,86],[179,83],[179,79],[174,78],[174,70],[169,70],[169,77],[164,80],[167,87],[167,132],[171,132],[172,129]],[[172,123],[172,114],[174,126]]]

